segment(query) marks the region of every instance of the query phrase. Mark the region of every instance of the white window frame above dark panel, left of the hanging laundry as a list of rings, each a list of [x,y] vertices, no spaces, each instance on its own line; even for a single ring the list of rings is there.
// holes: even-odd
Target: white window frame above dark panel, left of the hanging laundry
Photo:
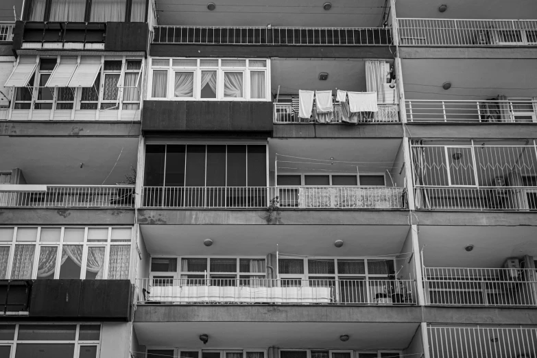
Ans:
[[[168,66],[154,66],[154,60],[168,60]],[[248,102],[270,102],[270,59],[269,58],[195,58],[197,61],[196,67],[188,66],[173,66],[173,60],[194,60],[193,58],[162,58],[154,57],[150,58],[150,71],[147,71],[147,99],[154,101],[248,101]],[[201,67],[201,60],[217,60],[217,67]],[[244,60],[244,67],[222,67],[222,60]],[[250,60],[264,60],[266,61],[266,67],[250,67]],[[153,72],[167,70],[167,94],[165,97],[153,97]],[[194,71],[194,95],[193,97],[175,97],[174,83],[176,72],[189,72]],[[216,71],[217,74],[217,86],[216,86],[216,98],[201,98],[201,79],[202,71]],[[226,72],[240,72],[243,73],[243,97],[224,97],[224,73]],[[251,98],[250,88],[250,72],[263,72],[265,73],[265,98]]]

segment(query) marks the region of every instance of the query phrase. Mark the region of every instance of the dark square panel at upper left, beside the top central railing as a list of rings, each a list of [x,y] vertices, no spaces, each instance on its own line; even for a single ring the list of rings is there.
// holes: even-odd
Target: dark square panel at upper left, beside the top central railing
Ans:
[[[106,23],[106,51],[146,51],[147,23]]]

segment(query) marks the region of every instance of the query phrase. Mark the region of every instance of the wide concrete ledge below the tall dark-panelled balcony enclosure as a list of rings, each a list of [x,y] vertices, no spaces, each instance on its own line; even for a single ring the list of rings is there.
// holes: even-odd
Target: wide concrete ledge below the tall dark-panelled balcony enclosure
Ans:
[[[142,225],[408,225],[409,211],[139,209]]]

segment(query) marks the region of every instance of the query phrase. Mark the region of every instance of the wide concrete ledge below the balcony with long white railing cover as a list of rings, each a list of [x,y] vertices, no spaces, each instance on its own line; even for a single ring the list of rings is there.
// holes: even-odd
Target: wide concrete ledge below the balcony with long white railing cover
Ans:
[[[134,322],[421,322],[420,307],[138,305]]]

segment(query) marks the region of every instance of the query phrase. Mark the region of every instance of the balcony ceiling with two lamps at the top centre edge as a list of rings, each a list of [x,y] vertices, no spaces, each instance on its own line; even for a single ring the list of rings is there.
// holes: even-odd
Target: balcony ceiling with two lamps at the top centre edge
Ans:
[[[286,26],[286,27],[377,27],[385,0],[156,0],[158,25],[195,26]]]

